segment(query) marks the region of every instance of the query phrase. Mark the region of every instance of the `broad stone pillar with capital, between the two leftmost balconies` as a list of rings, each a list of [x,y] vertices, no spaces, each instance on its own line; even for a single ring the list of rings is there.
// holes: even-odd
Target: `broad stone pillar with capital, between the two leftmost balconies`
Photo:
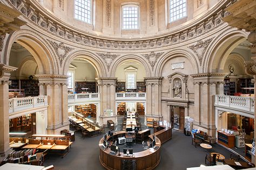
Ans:
[[[48,134],[59,134],[69,129],[68,121],[68,76],[56,74],[38,74],[38,81],[48,96]]]

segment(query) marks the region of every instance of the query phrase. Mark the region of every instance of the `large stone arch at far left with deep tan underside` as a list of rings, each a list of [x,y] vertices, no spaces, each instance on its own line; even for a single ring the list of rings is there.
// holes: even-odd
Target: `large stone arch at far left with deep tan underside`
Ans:
[[[35,58],[39,74],[58,74],[57,61],[50,52],[48,42],[38,33],[30,30],[18,30],[12,33],[6,41],[4,49],[4,63],[9,65],[12,44],[17,42],[25,47]]]

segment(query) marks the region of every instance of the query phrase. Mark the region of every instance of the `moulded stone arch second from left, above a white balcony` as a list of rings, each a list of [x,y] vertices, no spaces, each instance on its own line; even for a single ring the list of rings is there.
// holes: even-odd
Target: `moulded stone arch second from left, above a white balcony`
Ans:
[[[89,51],[75,51],[68,56],[68,59],[63,63],[63,74],[68,74],[70,63],[76,58],[83,58],[88,61],[96,70],[98,77],[106,76],[106,69],[104,63],[98,59],[98,56]]]

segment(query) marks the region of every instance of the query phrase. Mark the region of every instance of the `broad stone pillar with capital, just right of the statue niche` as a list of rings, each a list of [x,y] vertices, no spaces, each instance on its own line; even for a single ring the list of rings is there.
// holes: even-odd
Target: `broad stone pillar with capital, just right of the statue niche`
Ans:
[[[220,93],[217,84],[223,82],[224,73],[205,73],[192,75],[194,78],[194,123],[216,141],[214,95]],[[193,116],[190,115],[192,118]]]

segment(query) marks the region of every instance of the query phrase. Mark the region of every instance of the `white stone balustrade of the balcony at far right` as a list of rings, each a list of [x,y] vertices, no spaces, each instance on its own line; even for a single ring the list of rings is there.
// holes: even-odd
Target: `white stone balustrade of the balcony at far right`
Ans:
[[[215,105],[254,112],[254,97],[215,95]]]

